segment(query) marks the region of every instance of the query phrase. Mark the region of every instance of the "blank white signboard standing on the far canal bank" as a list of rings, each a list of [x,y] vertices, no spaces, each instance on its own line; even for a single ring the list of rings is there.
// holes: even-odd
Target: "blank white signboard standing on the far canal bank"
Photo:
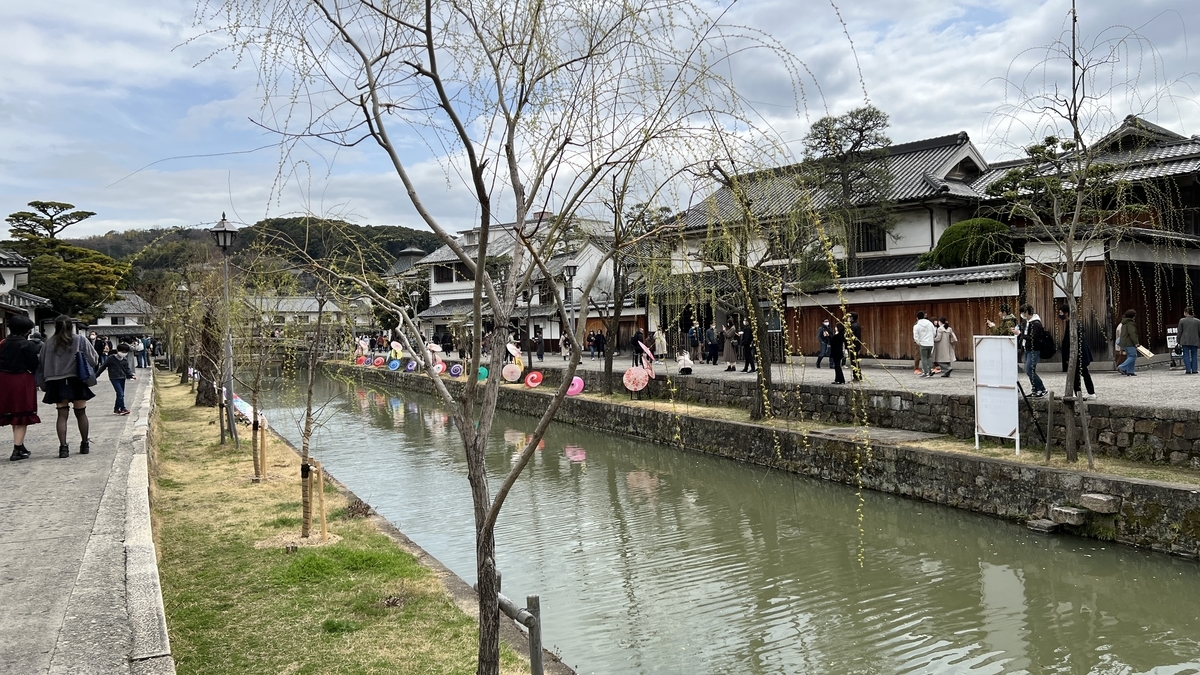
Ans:
[[[1021,454],[1019,410],[1016,407],[1016,336],[976,335],[976,449],[979,436],[1016,441]]]

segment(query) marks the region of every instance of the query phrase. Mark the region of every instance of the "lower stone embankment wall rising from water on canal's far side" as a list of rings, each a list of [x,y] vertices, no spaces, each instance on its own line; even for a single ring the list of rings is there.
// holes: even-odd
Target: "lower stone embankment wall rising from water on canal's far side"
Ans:
[[[331,365],[342,376],[434,394],[424,375]],[[553,371],[551,371],[553,372]],[[451,390],[461,384],[450,382]],[[540,416],[547,392],[500,388],[498,406]],[[841,395],[848,395],[848,392]],[[914,404],[914,407],[918,404]],[[932,405],[922,402],[919,405]],[[910,412],[911,416],[911,412]],[[1200,489],[1122,479],[918,448],[677,414],[588,399],[566,399],[556,419],[720,455],[803,476],[904,495],[1012,520],[1055,519],[1070,532],[1175,555],[1200,556]],[[840,420],[840,419],[829,419]],[[1064,520],[1056,507],[1086,506],[1110,495],[1115,507]],[[1076,509],[1079,510],[1079,509]],[[1084,509],[1087,510],[1087,509]]]

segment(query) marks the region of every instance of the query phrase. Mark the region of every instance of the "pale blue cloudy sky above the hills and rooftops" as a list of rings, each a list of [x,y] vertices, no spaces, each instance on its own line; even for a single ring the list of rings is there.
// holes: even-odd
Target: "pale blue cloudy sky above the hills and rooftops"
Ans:
[[[1136,76],[1138,86],[1105,101],[1109,119],[1138,113],[1200,135],[1200,2],[1084,5],[1084,36],[1144,37],[1121,54],[1118,79]],[[1004,114],[1014,100],[1006,77],[1028,72],[1038,48],[1069,26],[1069,0],[745,0],[726,20],[769,34],[816,86],[809,82],[797,114],[784,104],[793,84],[782,68],[743,59],[728,74],[797,155],[812,120],[869,100],[890,115],[894,143],[966,131],[989,161],[1013,159],[1031,137],[1025,118]],[[71,237],[306,210],[426,228],[376,147],[314,142],[281,175],[278,137],[251,121],[263,103],[259,73],[220,52],[220,36],[196,16],[181,0],[4,4],[0,213],[35,199],[97,213]],[[402,160],[431,213],[450,229],[469,227],[474,210],[457,179],[409,133]]]

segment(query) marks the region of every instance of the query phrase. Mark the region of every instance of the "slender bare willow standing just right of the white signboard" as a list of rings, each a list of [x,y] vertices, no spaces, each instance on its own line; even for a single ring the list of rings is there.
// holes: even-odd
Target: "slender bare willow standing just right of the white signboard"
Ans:
[[[1111,28],[1084,40],[1074,7],[1069,28],[1031,52],[1039,55],[1036,65],[1020,71],[1019,58],[1009,68],[1004,79],[1009,100],[997,117],[1008,129],[1028,130],[1032,142],[1024,148],[1024,162],[986,189],[1002,199],[1000,210],[1025,240],[1026,259],[1050,279],[1070,309],[1074,344],[1064,401],[1078,412],[1092,467],[1087,406],[1075,405],[1074,374],[1084,341],[1076,292],[1084,264],[1097,250],[1126,238],[1134,226],[1169,227],[1170,195],[1130,171],[1142,161],[1147,139],[1163,130],[1134,115],[1118,121],[1115,110],[1154,106],[1169,94],[1170,83],[1159,79],[1164,64],[1148,40],[1134,30]],[[1153,82],[1142,82],[1147,71]],[[1031,244],[1042,252],[1032,255]],[[1066,429],[1067,459],[1076,461],[1074,423],[1068,420]]]

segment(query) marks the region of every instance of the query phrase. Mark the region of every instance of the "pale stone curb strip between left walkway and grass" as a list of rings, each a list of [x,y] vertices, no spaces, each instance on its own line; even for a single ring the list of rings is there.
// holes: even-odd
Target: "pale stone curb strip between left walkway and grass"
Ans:
[[[150,525],[149,436],[152,414],[154,376],[138,402],[137,417],[131,419],[132,456],[125,497],[125,602],[132,639],[131,670],[148,675],[175,673],[158,581],[158,556]]]

